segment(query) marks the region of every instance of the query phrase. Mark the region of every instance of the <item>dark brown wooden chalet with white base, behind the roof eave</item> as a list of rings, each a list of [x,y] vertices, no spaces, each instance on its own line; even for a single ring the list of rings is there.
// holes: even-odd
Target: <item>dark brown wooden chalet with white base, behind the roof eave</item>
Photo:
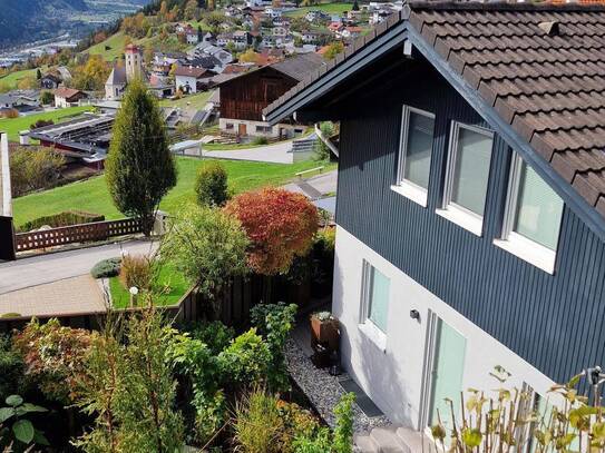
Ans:
[[[290,119],[269,125],[262,110],[323,65],[320,56],[305,53],[221,83],[221,130],[240,137],[289,138],[301,134],[304,127]]]

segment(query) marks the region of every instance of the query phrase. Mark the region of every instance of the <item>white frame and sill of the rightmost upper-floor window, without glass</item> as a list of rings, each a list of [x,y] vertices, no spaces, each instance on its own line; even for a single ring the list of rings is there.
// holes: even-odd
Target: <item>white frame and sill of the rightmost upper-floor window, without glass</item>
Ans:
[[[538,244],[513,230],[515,224],[515,215],[519,203],[519,184],[521,176],[523,158],[517,154],[513,154],[510,161],[510,176],[508,178],[508,190],[506,198],[506,208],[502,218],[502,229],[500,237],[494,239],[494,245],[505,249],[506,252],[517,256],[518,258],[538,267],[548,273],[555,273],[555,264],[557,260],[557,249],[552,250],[541,244]],[[562,216],[563,223],[563,216]],[[560,224],[558,225],[560,235]]]

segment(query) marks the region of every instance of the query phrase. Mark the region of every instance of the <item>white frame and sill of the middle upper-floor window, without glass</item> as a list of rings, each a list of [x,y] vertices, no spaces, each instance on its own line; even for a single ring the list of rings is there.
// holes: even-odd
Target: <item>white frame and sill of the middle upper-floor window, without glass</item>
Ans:
[[[479,127],[471,126],[459,121],[451,121],[449,145],[448,145],[448,166],[446,169],[446,180],[443,185],[443,198],[441,200],[441,208],[436,213],[441,217],[447,218],[451,223],[469,230],[476,236],[482,236],[484,234],[484,216],[478,215],[462,206],[451,201],[451,193],[453,189],[453,176],[456,174],[456,159],[458,158],[458,137],[460,129],[467,129],[477,134],[481,134],[491,140],[491,156],[489,159],[488,169],[488,185],[486,186],[486,205],[487,205],[487,190],[489,188],[489,174],[491,173],[491,157],[494,154],[494,131]]]

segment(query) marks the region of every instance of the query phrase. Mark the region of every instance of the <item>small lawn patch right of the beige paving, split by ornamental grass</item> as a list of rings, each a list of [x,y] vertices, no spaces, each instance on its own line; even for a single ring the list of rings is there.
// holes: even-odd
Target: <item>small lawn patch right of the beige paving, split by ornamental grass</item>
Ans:
[[[191,287],[183,274],[170,266],[159,269],[155,285],[159,294],[156,304],[163,306],[176,305]],[[124,287],[119,277],[109,279],[109,293],[114,308],[126,308],[130,304],[130,293]]]

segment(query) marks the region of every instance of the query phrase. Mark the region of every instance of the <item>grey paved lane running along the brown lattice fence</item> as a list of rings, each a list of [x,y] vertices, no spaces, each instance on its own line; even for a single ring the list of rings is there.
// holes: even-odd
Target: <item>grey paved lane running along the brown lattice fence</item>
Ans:
[[[2,263],[0,264],[0,294],[88,275],[92,266],[101,259],[120,256],[121,252],[148,254],[156,247],[155,243],[149,240],[136,239]],[[38,303],[43,305],[40,304],[40,299]]]

